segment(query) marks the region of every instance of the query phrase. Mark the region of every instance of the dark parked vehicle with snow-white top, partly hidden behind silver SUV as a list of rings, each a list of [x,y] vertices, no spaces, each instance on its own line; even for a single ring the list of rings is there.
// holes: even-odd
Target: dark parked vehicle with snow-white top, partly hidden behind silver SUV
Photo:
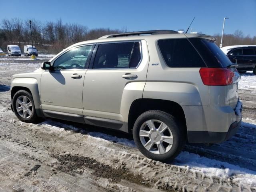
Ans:
[[[256,45],[234,45],[222,47],[221,50],[231,62],[238,64],[239,72],[253,71],[256,75]]]

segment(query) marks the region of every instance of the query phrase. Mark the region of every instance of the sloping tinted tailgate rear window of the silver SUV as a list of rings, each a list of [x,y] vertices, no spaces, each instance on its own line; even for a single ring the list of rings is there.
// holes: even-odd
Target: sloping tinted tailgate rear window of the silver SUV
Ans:
[[[204,38],[189,38],[208,67],[227,67],[232,62],[224,52],[212,41]]]

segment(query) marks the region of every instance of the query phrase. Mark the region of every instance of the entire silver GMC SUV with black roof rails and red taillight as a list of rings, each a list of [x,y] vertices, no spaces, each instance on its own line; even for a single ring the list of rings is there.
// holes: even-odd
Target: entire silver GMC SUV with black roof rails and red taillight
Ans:
[[[155,30],[74,44],[12,76],[12,110],[23,122],[51,117],[132,133],[142,154],[160,161],[186,141],[223,142],[241,124],[240,74],[215,40]]]

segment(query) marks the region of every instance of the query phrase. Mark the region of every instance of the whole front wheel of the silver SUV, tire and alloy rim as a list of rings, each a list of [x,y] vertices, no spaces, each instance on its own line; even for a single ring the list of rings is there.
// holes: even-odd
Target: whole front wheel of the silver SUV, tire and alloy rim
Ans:
[[[26,101],[28,105],[24,106],[24,96],[26,97]],[[22,103],[23,107],[21,104],[19,104],[19,102],[17,101],[19,99],[19,102]],[[17,102],[17,103],[16,103]],[[30,102],[30,103],[29,103]],[[18,112],[17,107],[19,107],[20,111]],[[39,118],[36,114],[36,108],[35,108],[35,104],[34,104],[34,100],[32,95],[25,91],[25,90],[19,90],[18,92],[16,92],[12,98],[12,108],[14,111],[14,114],[16,115],[16,117],[21,120],[22,122],[26,122],[26,123],[38,123],[38,122],[42,122],[42,118]],[[24,109],[27,111],[24,112]],[[30,110],[30,111],[28,111]],[[30,114],[29,114],[30,112]],[[21,114],[24,114],[25,116],[22,116]]]

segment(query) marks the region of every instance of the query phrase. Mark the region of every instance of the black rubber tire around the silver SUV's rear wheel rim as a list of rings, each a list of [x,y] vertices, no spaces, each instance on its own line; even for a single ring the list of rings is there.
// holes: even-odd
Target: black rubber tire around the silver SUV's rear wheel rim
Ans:
[[[166,124],[173,136],[173,144],[170,150],[164,154],[154,154],[150,151],[148,151],[140,141],[140,127],[146,122],[147,120],[160,120],[161,122],[164,122]],[[184,145],[186,143],[186,134],[184,132],[184,128],[181,126],[178,126],[179,123],[177,122],[176,118],[174,116],[163,112],[159,110],[150,110],[142,113],[134,123],[133,127],[133,138],[136,146],[144,154],[146,157],[151,158],[153,160],[161,161],[161,162],[168,162],[170,160],[173,160],[178,156],[178,154],[182,151],[184,148]]]

